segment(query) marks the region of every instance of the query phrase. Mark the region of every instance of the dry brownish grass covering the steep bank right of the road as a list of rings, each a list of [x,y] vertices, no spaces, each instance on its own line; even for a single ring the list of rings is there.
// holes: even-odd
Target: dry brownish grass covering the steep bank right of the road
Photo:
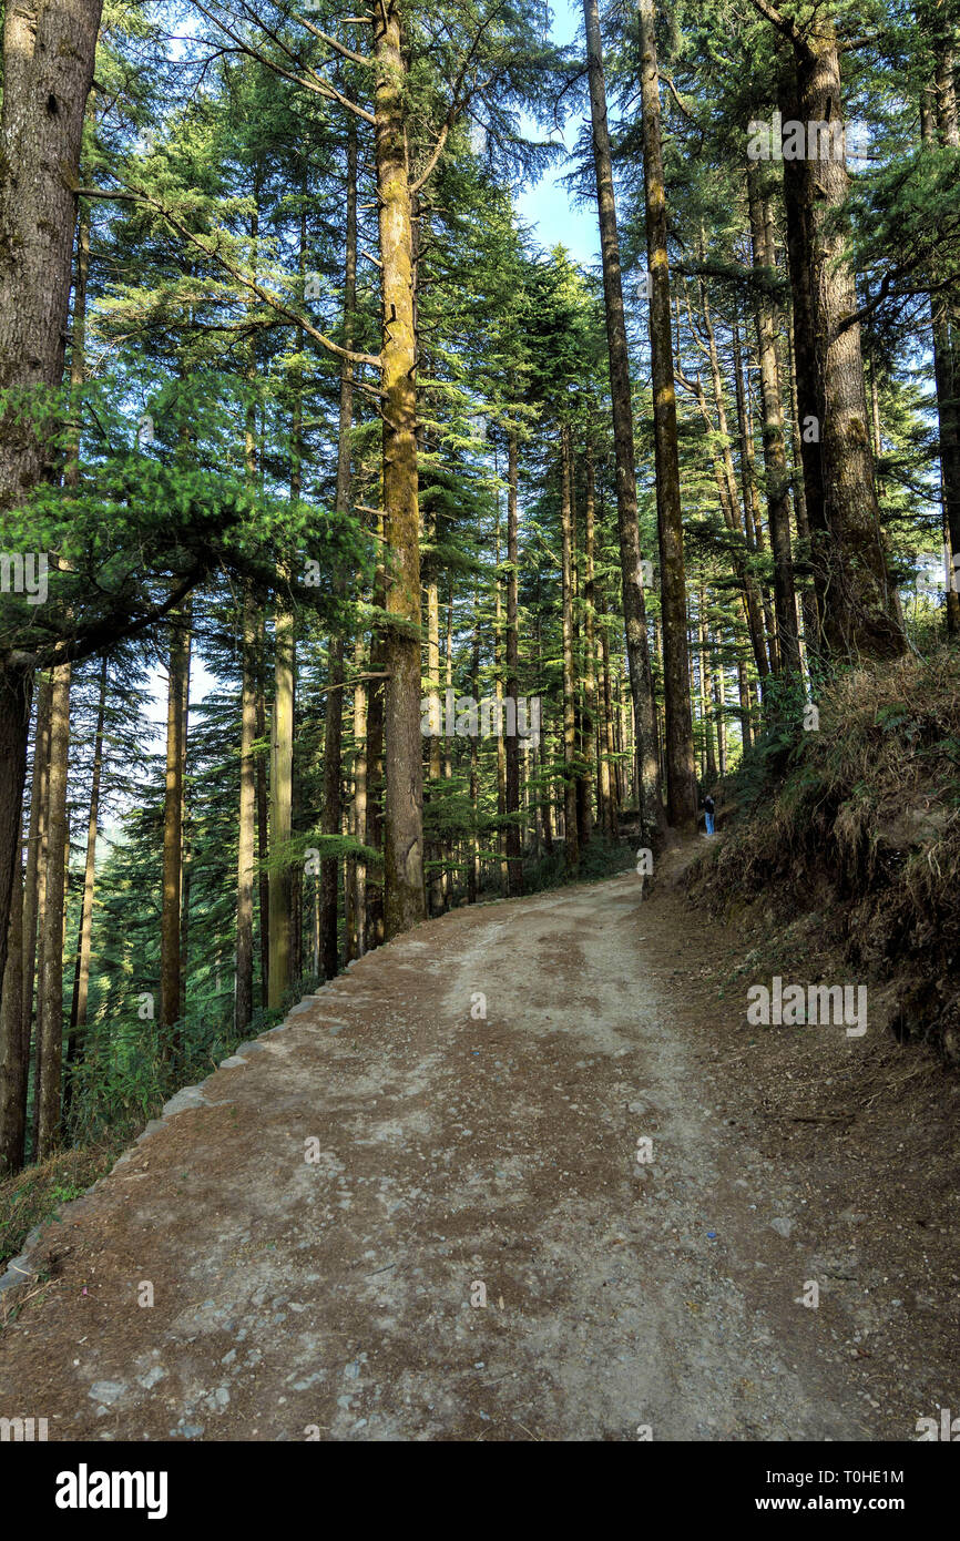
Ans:
[[[942,649],[843,675],[817,732],[772,735],[726,789],[738,811],[690,872],[727,917],[817,911],[874,979],[895,979],[891,1028],[960,1063],[960,656]]]

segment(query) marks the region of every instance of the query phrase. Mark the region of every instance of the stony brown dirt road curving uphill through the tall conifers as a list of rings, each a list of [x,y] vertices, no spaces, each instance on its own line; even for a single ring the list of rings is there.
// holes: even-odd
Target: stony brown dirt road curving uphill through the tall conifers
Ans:
[[[695,851],[644,900],[630,872],[430,922],[240,1051],[43,1231],[0,1415],[897,1441],[960,1410],[960,1083],[878,1029],[749,1028]]]

